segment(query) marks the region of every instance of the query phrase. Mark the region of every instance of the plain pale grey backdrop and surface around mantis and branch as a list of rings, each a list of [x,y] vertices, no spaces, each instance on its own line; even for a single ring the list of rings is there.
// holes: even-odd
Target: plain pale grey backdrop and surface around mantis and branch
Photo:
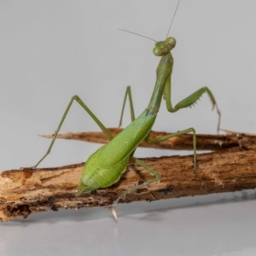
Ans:
[[[32,166],[67,103],[79,95],[107,127],[118,125],[126,85],[136,114],[148,106],[160,61],[154,42],[166,32],[177,1],[1,1],[0,170]],[[182,0],[170,35],[173,104],[208,86],[221,127],[255,132],[256,2]],[[128,109],[128,108],[127,108]],[[167,113],[155,131],[195,127],[215,133],[207,95],[195,108]],[[130,122],[125,112],[125,125]],[[99,131],[74,104],[62,132]],[[85,161],[99,145],[57,141],[40,165]],[[137,156],[183,154],[138,149]],[[103,208],[42,212],[0,224],[1,255],[255,255],[255,192],[119,205],[119,221]]]

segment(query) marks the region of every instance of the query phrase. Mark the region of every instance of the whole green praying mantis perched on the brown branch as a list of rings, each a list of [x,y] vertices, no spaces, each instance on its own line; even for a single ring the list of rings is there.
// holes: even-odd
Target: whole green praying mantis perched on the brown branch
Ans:
[[[177,4],[178,6],[178,4]],[[177,9],[176,9],[177,11]],[[176,13],[175,11],[175,13]],[[175,14],[174,14],[175,16]],[[173,16],[173,18],[174,18]],[[173,19],[172,19],[173,20]],[[171,23],[172,26],[172,23]],[[169,27],[169,31],[170,28]],[[168,33],[169,33],[168,31]],[[96,189],[108,188],[113,183],[117,183],[121,175],[125,172],[128,162],[131,160],[135,162],[137,165],[142,166],[148,172],[150,172],[154,178],[148,181],[144,181],[142,184],[137,184],[131,189],[125,190],[121,193],[116,201],[113,201],[112,206],[110,207],[113,211],[113,215],[117,218],[115,212],[115,206],[119,202],[120,199],[124,198],[125,195],[128,195],[137,189],[141,189],[143,187],[147,187],[151,183],[160,181],[160,173],[155,172],[152,168],[143,163],[142,160],[138,160],[134,157],[134,153],[139,143],[145,140],[146,143],[154,144],[165,141],[171,137],[177,137],[184,133],[192,132],[193,133],[193,145],[194,145],[194,172],[196,177],[200,178],[198,172],[196,170],[196,137],[195,137],[195,129],[188,128],[183,131],[177,131],[176,133],[172,133],[166,135],[164,137],[159,137],[154,140],[150,140],[150,131],[154,125],[154,121],[156,119],[157,113],[160,109],[160,103],[162,98],[166,100],[166,109],[168,112],[174,113],[177,112],[181,108],[187,108],[193,105],[203,93],[207,93],[212,102],[212,107],[217,109],[218,112],[218,128],[220,122],[220,111],[218,110],[217,103],[215,101],[214,96],[212,95],[211,90],[207,87],[202,87],[199,90],[196,90],[190,96],[184,98],[181,102],[178,102],[175,107],[172,107],[171,100],[171,77],[172,77],[172,66],[173,66],[173,57],[171,50],[176,46],[176,39],[166,37],[166,40],[159,41],[155,43],[153,52],[154,55],[160,56],[160,63],[156,70],[156,82],[154,85],[154,90],[151,96],[151,99],[148,103],[148,108],[143,110],[137,118],[135,118],[132,97],[131,97],[131,87],[127,86],[125,91],[125,99],[123,102],[123,107],[121,111],[120,123],[121,125],[125,102],[127,97],[129,98],[130,107],[131,107],[131,124],[128,125],[124,131],[120,132],[118,136],[113,137],[108,129],[102,124],[102,122],[96,118],[96,115],[91,112],[90,108],[86,106],[86,104],[80,99],[79,96],[73,96],[70,102],[67,105],[67,108],[61,118],[61,121],[55,131],[53,139],[49,145],[47,152],[44,156],[38,161],[33,168],[36,168],[42,160],[49,154],[53,144],[55,143],[55,138],[57,137],[61,125],[67,117],[67,113],[71,108],[74,101],[78,102],[79,105],[84,108],[84,110],[90,115],[90,117],[96,122],[97,125],[102,129],[104,134],[108,137],[109,143],[102,146],[96,150],[95,153],[91,154],[88,158],[87,162],[84,165],[84,172],[82,177],[80,178],[77,195],[82,195],[86,192],[90,192]]]

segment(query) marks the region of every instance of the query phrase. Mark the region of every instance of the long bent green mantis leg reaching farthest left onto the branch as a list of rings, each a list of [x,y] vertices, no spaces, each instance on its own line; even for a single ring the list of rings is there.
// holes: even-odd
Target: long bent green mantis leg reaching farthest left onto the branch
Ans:
[[[72,104],[73,104],[74,101],[78,102],[79,105],[80,105],[82,108],[84,108],[84,110],[85,110],[87,113],[89,113],[90,117],[95,120],[95,122],[96,122],[97,125],[100,126],[100,128],[102,129],[102,131],[103,131],[103,132],[105,133],[105,135],[109,138],[109,140],[112,140],[112,139],[113,139],[113,136],[112,136],[111,133],[108,131],[108,129],[107,129],[104,125],[102,125],[102,122],[101,122],[99,119],[96,118],[96,115],[90,111],[90,108],[88,108],[88,107],[84,104],[84,102],[79,98],[79,96],[73,96],[73,97],[71,98],[70,102],[68,103],[65,112],[64,112],[63,115],[62,115],[61,121],[60,121],[60,123],[59,123],[59,125],[58,125],[58,127],[57,127],[57,130],[56,130],[55,133],[54,133],[54,137],[53,137],[51,143],[49,144],[49,148],[47,149],[46,153],[45,153],[44,156],[38,161],[38,163],[37,163],[35,166],[29,167],[29,168],[36,168],[36,167],[44,160],[44,158],[49,154],[51,148],[53,147],[53,144],[55,143],[55,138],[57,137],[59,131],[61,130],[61,125],[63,124],[64,120],[66,119],[67,113],[68,113],[69,109],[71,108],[71,106],[72,106]],[[22,167],[22,168],[24,169],[24,167]],[[28,168],[28,167],[26,167],[26,168]]]

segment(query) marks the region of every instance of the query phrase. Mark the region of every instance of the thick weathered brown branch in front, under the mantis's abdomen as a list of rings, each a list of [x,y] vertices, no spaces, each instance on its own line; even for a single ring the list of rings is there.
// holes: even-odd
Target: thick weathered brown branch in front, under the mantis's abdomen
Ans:
[[[148,158],[143,161],[160,172],[160,183],[138,189],[119,202],[154,201],[188,195],[206,195],[256,187],[256,142],[244,137],[241,148],[229,148],[210,154],[198,154],[198,172],[204,183],[195,178],[192,156]],[[246,149],[242,149],[246,148]],[[57,168],[13,170],[0,173],[0,220],[32,212],[108,206],[121,191],[152,178],[141,166],[130,163],[118,183],[76,196],[84,163]]]

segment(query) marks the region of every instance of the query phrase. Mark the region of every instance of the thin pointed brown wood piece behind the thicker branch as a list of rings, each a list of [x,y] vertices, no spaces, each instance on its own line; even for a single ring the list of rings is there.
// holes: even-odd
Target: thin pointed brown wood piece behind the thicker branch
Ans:
[[[116,137],[121,128],[108,128],[108,131]],[[164,131],[151,131],[150,139],[155,139],[157,137],[166,136],[167,132]],[[42,137],[52,138],[53,135],[41,135]],[[225,135],[218,134],[197,134],[196,135],[196,148],[197,150],[222,150],[226,148],[233,148],[240,146],[241,138],[244,137],[242,133],[229,132]],[[256,139],[255,134],[247,134],[247,138]],[[108,137],[102,131],[87,131],[87,132],[69,132],[66,134],[59,134],[57,138],[78,140],[90,143],[108,143]],[[147,144],[145,142],[140,143],[139,147],[144,148],[159,148],[159,149],[175,149],[175,150],[185,150],[193,149],[193,138],[192,134],[184,134],[178,137],[172,137],[168,140],[156,143]]]

